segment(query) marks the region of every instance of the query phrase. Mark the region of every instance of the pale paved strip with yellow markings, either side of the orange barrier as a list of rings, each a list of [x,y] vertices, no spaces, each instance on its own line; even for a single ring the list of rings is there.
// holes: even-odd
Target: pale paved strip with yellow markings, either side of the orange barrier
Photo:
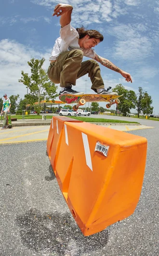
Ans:
[[[46,141],[49,134],[50,123],[51,119],[47,119],[46,121],[39,119],[14,121],[13,128],[0,130],[0,144]],[[145,125],[119,123],[105,123],[105,125],[103,123],[96,123],[96,125],[102,125],[106,128],[120,131],[153,128]],[[0,124],[0,126],[2,126],[2,124]]]

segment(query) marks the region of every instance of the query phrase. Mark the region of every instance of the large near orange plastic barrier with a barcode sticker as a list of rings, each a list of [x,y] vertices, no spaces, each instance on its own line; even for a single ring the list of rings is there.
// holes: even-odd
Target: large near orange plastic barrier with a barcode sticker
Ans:
[[[146,138],[140,136],[85,122],[64,123],[56,178],[85,236],[134,212],[144,178],[146,147]]]

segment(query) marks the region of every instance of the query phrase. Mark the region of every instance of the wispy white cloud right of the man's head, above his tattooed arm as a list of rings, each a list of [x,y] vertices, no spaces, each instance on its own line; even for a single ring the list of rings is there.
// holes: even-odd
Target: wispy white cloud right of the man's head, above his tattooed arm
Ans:
[[[153,56],[153,41],[145,35],[147,30],[143,24],[123,25],[108,28],[108,33],[116,40],[111,48],[105,50],[106,56],[128,62],[141,62]]]

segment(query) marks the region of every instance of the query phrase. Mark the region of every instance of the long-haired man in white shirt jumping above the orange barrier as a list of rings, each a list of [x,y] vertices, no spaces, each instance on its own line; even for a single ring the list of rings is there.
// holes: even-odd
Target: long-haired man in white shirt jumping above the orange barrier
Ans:
[[[108,69],[119,72],[127,82],[132,83],[131,75],[122,71],[111,61],[96,54],[93,47],[103,41],[103,35],[97,30],[87,30],[84,27],[73,28],[70,25],[73,7],[69,4],[59,3],[55,6],[53,16],[60,17],[60,37],[56,40],[52,55],[48,77],[55,83],[60,84],[60,94],[81,94],[72,89],[76,80],[88,73],[94,92],[98,94],[116,94],[108,92],[100,73],[99,63]],[[82,61],[83,56],[90,60]]]

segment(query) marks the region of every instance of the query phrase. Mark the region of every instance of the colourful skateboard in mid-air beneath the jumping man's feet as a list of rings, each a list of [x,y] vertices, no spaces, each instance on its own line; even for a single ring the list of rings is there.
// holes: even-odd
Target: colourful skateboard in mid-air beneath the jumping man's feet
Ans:
[[[80,106],[83,106],[86,102],[109,102],[106,104],[106,108],[110,108],[113,104],[119,104],[120,100],[118,99],[122,95],[112,95],[112,94],[62,94],[59,96],[59,99],[67,104],[76,103],[73,106],[73,110],[76,111]]]

